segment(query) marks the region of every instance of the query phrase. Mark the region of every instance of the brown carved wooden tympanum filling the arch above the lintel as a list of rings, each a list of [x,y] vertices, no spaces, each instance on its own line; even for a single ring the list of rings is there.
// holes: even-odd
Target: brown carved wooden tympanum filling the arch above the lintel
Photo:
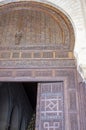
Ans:
[[[31,1],[3,5],[0,7],[0,23],[0,48],[35,46],[44,50],[47,47],[73,50],[72,24],[65,14],[52,6]]]

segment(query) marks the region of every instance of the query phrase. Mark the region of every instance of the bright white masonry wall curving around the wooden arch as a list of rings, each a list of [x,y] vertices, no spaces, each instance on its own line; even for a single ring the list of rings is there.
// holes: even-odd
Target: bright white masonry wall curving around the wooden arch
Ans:
[[[1,5],[25,0],[0,0]],[[26,0],[31,1],[31,0]],[[33,0],[32,0],[33,1]],[[77,69],[83,80],[86,79],[86,1],[85,0],[34,0],[51,4],[62,10],[71,20],[75,30],[74,55]]]

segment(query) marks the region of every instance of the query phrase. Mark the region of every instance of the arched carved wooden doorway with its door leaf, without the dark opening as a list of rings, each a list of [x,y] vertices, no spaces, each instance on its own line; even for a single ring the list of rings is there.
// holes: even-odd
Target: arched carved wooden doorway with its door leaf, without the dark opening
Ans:
[[[0,14],[0,81],[38,83],[38,130],[79,130],[70,20],[39,2],[3,5]]]

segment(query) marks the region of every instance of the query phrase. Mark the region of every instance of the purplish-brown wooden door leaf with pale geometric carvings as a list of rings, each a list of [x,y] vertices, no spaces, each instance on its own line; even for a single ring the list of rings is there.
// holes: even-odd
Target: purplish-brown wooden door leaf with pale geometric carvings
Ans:
[[[41,83],[39,130],[64,129],[63,82]]]

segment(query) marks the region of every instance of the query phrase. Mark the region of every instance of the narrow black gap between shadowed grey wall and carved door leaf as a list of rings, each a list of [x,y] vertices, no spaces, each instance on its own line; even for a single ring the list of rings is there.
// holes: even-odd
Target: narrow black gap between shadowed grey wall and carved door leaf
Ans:
[[[33,109],[31,120],[28,124],[28,130],[35,130],[36,122],[36,103],[37,103],[37,83],[36,82],[24,82],[22,83],[25,93],[30,101]]]

